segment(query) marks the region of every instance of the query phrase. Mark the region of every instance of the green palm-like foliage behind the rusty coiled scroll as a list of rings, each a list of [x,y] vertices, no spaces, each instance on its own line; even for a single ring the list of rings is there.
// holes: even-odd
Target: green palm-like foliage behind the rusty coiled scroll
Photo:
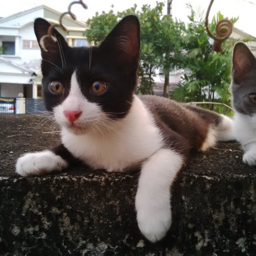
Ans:
[[[222,52],[213,52],[212,39],[210,39],[204,28],[204,13],[198,10],[195,12],[191,5],[188,16],[190,23],[186,28],[183,49],[185,58],[183,68],[189,69],[190,74],[184,75],[179,87],[174,90],[173,98],[183,102],[221,102],[230,105],[230,70],[232,44],[229,39],[223,44]],[[216,23],[224,18],[218,12],[209,24],[211,31],[214,31]],[[234,24],[238,18],[230,18]],[[214,105],[207,107],[211,109]],[[218,106],[222,112],[222,106]]]

